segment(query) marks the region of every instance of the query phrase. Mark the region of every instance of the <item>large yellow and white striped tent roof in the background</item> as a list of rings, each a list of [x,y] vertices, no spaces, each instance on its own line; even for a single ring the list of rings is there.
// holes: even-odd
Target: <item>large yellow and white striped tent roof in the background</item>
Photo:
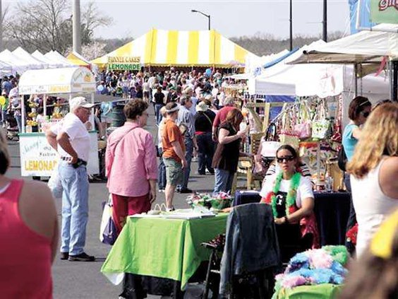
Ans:
[[[215,30],[179,31],[152,29],[119,49],[92,60],[105,66],[108,57],[140,57],[145,66],[244,66],[255,54]]]

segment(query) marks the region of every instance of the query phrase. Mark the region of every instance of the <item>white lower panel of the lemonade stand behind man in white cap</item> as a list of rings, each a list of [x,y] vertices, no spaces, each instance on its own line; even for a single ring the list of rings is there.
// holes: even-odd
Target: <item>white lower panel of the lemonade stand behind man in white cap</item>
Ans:
[[[90,132],[90,158],[88,173],[100,172],[98,161],[97,133]],[[47,142],[44,134],[25,134],[20,136],[20,172],[23,177],[49,177],[58,167],[59,155]]]

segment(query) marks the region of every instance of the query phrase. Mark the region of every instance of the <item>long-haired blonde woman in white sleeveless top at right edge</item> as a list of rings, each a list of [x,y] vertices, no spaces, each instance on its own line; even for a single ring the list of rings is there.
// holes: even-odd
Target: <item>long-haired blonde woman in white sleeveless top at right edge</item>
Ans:
[[[358,221],[358,256],[388,213],[398,208],[398,104],[373,110],[361,134],[347,167]]]

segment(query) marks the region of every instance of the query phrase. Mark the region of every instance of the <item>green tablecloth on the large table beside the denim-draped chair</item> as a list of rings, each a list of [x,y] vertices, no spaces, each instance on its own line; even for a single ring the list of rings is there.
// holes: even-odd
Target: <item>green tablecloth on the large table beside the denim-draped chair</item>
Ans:
[[[227,216],[128,218],[101,271],[114,283],[115,274],[132,273],[181,281],[183,289],[200,263],[210,257],[210,250],[200,243],[224,233]]]

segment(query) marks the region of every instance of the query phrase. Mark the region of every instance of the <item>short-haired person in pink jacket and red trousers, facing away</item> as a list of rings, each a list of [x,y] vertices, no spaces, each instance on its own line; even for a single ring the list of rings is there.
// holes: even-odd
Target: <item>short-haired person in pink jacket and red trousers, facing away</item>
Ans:
[[[156,199],[155,144],[147,124],[147,103],[134,99],[124,107],[126,123],[108,137],[107,187],[114,205],[113,218],[120,233],[126,216],[150,210]]]

